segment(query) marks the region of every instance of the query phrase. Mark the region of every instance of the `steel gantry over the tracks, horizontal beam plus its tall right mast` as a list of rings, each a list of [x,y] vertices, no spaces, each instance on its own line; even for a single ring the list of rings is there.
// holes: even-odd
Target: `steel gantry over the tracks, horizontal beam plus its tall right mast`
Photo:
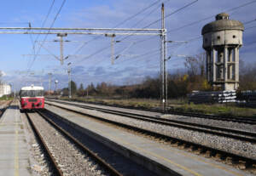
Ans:
[[[0,34],[55,34],[58,37],[67,35],[102,35],[112,37],[111,46],[113,48],[113,37],[116,36],[160,36],[160,73],[161,73],[161,110],[165,111],[167,106],[166,99],[166,27],[165,27],[165,10],[164,4],[161,9],[161,28],[146,29],[146,28],[65,28],[65,27],[0,27]],[[114,57],[112,57],[114,58]],[[63,63],[61,57],[61,63]]]

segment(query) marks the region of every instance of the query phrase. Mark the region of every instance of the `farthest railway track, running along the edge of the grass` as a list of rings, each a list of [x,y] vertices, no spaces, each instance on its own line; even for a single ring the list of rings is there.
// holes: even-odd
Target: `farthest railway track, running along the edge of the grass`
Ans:
[[[49,101],[55,101],[60,102],[60,100],[57,99],[47,99]],[[63,101],[62,101],[63,102]],[[65,102],[69,103],[69,102]],[[72,104],[72,103],[70,103]],[[92,105],[104,105],[102,103],[89,103]],[[88,105],[84,105],[88,106]],[[150,111],[150,112],[158,112],[161,113],[158,109],[144,109],[144,108],[135,108],[135,107],[125,107],[122,105],[105,105],[105,106],[112,106],[112,107],[119,107],[119,108],[126,108],[126,109],[132,109],[132,110],[140,110],[140,111]],[[91,106],[88,106],[88,108]],[[183,111],[173,111],[172,109],[169,109],[167,111],[167,114],[173,114],[173,115],[179,115],[179,116],[191,116],[191,117],[197,117],[197,118],[205,118],[205,119],[212,119],[212,120],[218,120],[218,121],[227,121],[227,122],[239,122],[239,123],[245,123],[245,124],[251,124],[256,125],[256,118],[254,117],[238,117],[238,116],[215,116],[215,115],[206,115],[206,114],[199,114],[199,113],[189,113],[189,112],[183,112]]]

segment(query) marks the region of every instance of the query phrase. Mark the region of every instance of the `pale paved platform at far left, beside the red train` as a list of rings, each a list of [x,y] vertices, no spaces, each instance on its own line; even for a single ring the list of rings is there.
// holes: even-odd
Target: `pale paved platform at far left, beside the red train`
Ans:
[[[0,176],[32,175],[18,102],[0,119]]]

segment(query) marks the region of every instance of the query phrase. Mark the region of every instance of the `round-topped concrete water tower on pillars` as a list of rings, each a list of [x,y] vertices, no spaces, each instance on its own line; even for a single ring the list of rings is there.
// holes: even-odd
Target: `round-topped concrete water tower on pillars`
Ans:
[[[236,90],[239,83],[239,48],[243,24],[230,20],[229,14],[217,14],[216,20],[202,28],[206,50],[207,80],[213,87]]]

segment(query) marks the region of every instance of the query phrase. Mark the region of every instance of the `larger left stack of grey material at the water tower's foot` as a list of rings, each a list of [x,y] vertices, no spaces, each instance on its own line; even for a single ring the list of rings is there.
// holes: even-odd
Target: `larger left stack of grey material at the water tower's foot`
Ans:
[[[193,91],[192,94],[189,94],[189,102],[193,102],[195,104],[232,103],[236,102],[236,91]]]

